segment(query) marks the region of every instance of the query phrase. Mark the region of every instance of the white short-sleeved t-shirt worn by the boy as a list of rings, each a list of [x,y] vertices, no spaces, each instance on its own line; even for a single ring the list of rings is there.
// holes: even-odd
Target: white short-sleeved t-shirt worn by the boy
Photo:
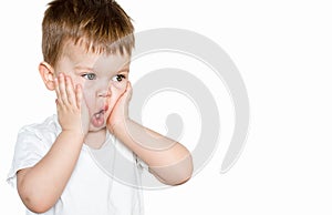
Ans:
[[[56,115],[20,130],[7,180],[12,186],[17,187],[17,172],[37,164],[60,132]],[[111,134],[100,150],[83,144],[60,199],[43,215],[142,215],[142,192],[137,188],[142,163],[137,161],[133,152]],[[27,215],[34,213],[27,209]]]

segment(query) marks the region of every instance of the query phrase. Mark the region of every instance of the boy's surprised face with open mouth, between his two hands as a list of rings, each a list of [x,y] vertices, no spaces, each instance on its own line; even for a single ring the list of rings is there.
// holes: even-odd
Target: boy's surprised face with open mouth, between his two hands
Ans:
[[[74,86],[81,84],[90,114],[90,131],[106,125],[117,99],[125,92],[129,72],[129,54],[96,54],[83,45],[68,43],[54,70],[70,75]]]

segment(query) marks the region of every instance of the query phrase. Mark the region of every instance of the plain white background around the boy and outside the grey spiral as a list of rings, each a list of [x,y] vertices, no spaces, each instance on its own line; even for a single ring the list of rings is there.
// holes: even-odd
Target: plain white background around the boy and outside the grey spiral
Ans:
[[[6,183],[19,127],[55,112],[37,70],[46,2],[7,1],[0,8],[0,214],[24,214]],[[218,151],[191,181],[145,192],[146,215],[332,213],[329,0],[118,2],[136,31],[181,28],[217,42],[238,66],[251,106],[250,133],[236,165],[219,174],[230,136],[221,131]],[[221,120],[231,124],[227,114]]]

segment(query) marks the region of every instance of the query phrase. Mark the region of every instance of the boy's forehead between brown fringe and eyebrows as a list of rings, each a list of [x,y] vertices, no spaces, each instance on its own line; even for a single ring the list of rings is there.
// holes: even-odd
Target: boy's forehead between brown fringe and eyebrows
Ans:
[[[87,50],[83,43],[68,42],[63,47],[63,58],[66,58],[75,66],[82,68],[124,68],[129,65],[131,55],[124,52],[123,54],[120,51],[115,53],[96,53],[92,50]]]

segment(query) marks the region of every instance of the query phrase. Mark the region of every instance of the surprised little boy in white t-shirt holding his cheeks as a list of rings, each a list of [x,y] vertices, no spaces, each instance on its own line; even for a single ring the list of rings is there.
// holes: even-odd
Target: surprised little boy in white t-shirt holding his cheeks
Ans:
[[[137,161],[165,184],[186,182],[188,150],[128,117],[134,28],[123,9],[112,0],[54,0],[42,27],[39,71],[56,93],[58,114],[18,135],[8,181],[27,214],[141,214],[138,190],[107,176],[92,157],[112,145],[133,168],[122,168],[115,154],[108,158],[138,185]]]

